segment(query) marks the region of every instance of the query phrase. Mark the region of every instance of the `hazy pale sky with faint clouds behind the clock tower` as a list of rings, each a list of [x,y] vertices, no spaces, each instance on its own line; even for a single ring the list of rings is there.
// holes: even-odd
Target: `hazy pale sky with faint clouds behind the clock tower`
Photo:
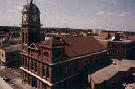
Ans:
[[[135,0],[34,0],[43,27],[135,31]],[[21,24],[27,0],[0,0],[0,25]]]

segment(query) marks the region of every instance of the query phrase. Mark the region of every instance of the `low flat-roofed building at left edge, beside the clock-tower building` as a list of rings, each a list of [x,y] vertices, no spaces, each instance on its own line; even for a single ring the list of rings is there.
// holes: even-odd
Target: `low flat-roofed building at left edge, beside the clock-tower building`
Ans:
[[[0,47],[0,62],[8,67],[19,67],[21,58],[19,54],[20,44]]]

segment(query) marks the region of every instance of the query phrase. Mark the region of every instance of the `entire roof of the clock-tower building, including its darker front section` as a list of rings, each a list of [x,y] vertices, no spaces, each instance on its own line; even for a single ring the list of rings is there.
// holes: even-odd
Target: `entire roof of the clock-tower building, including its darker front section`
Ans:
[[[96,53],[107,49],[107,41],[97,40],[94,37],[54,37],[41,42],[44,47],[65,47],[67,57],[76,57]]]

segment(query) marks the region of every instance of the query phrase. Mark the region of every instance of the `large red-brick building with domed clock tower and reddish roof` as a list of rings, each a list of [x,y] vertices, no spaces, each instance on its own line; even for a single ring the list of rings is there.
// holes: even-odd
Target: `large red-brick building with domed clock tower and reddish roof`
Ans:
[[[40,34],[40,11],[32,0],[22,11],[23,81],[37,89],[83,89],[88,69],[104,62],[105,42],[94,37],[45,37]]]

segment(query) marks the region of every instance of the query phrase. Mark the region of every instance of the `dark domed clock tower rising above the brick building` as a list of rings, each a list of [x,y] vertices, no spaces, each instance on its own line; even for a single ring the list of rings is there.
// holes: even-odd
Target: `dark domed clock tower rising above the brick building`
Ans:
[[[31,45],[41,40],[40,30],[40,11],[39,8],[30,1],[23,6],[22,10],[22,44]]]

